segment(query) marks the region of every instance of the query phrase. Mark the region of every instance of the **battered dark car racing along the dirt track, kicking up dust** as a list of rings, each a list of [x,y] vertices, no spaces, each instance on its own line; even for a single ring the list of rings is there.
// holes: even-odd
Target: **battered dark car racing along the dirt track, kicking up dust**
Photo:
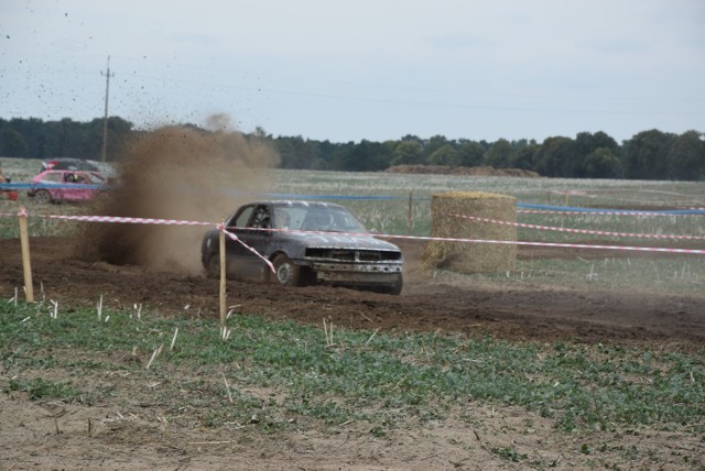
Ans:
[[[327,284],[398,295],[402,289],[402,254],[392,243],[367,233],[340,206],[314,201],[257,201],[240,207],[226,220],[226,272],[237,278],[269,280],[282,285]],[[208,231],[202,244],[208,276],[220,273],[219,231]]]

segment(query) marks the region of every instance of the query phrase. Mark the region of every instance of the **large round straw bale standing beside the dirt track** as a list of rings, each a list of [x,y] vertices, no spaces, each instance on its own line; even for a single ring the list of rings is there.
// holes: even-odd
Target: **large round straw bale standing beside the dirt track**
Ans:
[[[476,240],[517,241],[517,228],[475,221],[454,215],[517,220],[516,199],[480,191],[453,191],[433,195],[431,200],[432,237]],[[514,267],[516,244],[430,241],[423,254],[429,267],[458,273],[506,272]]]

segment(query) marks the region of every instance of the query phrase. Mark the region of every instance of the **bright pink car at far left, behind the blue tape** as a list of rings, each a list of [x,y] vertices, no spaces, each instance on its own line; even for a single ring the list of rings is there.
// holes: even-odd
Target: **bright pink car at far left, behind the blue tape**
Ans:
[[[50,169],[32,178],[32,184],[41,185],[41,187],[32,188],[26,194],[34,197],[40,204],[85,201],[98,195],[107,183],[107,179],[97,172]],[[95,187],[89,185],[95,185]]]

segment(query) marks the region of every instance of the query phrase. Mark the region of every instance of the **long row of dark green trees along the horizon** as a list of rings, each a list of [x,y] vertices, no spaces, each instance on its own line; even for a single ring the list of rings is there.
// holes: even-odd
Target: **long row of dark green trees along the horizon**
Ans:
[[[194,124],[185,125],[209,132]],[[119,117],[110,117],[107,129],[108,161],[119,161],[128,142],[145,132]],[[100,160],[102,138],[101,118],[89,122],[69,118],[0,119],[2,156]],[[533,171],[547,177],[705,180],[705,141],[698,131],[673,134],[653,129],[621,144],[601,131],[581,132],[575,138],[551,136],[541,143],[451,140],[443,135],[334,143],[273,136],[261,128],[245,138],[270,143],[281,155],[282,168],[378,172],[397,165],[491,166]]]

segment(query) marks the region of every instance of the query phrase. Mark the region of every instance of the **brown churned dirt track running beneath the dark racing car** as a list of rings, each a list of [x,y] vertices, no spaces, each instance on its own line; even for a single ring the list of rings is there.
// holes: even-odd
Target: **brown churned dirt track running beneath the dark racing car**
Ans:
[[[84,262],[73,256],[74,248],[66,239],[34,239],[31,245],[37,298],[95,306],[104,295],[110,308],[143,304],[164,314],[218,315],[216,281]],[[705,343],[705,297],[469,285],[434,278],[421,266],[423,245],[414,241],[401,245],[405,258],[401,296],[231,281],[228,302],[242,313],[273,319],[321,324],[325,317],[336,326],[382,331],[440,330],[510,340]],[[18,240],[0,241],[0,295],[7,299],[23,284]]]

